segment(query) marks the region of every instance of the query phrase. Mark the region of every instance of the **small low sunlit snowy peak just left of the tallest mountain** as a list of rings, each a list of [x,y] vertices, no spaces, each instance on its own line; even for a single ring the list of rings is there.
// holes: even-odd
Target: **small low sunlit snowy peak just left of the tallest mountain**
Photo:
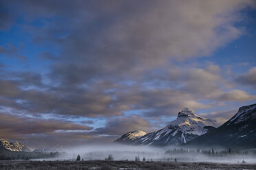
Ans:
[[[118,143],[133,143],[137,138],[140,138],[141,136],[144,136],[145,134],[147,134],[147,133],[143,132],[142,130],[136,130],[136,131],[128,132],[127,134],[124,134],[120,138],[116,139],[115,142],[118,142]]]

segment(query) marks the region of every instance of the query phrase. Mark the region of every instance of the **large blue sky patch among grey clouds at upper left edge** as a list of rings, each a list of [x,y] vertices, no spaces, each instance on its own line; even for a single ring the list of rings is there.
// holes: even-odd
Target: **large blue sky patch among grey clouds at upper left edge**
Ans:
[[[42,42],[40,45],[33,42],[34,34],[22,28],[23,25],[15,24],[7,31],[0,32],[0,45],[7,47],[9,44],[17,47],[19,55],[25,56],[28,60],[24,61],[15,57],[3,56],[0,62],[7,65],[7,69],[12,71],[38,71],[47,73],[47,66],[52,64],[50,60],[41,60],[39,53],[47,51],[58,56],[60,49],[50,42]],[[28,28],[29,29],[29,28]]]

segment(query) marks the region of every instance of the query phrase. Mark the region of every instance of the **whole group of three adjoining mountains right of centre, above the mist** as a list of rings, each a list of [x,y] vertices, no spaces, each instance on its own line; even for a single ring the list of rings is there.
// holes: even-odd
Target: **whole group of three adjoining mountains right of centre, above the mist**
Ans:
[[[175,121],[161,130],[149,134],[139,130],[129,132],[115,142],[146,146],[256,147],[256,104],[242,106],[230,120],[219,125],[184,108]]]

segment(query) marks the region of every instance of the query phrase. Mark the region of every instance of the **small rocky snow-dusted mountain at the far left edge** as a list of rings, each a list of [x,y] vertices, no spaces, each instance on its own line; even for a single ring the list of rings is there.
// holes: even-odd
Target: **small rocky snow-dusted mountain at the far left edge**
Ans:
[[[18,143],[17,141],[12,143],[4,138],[0,138],[0,148],[8,149],[10,151],[30,151],[28,147]]]

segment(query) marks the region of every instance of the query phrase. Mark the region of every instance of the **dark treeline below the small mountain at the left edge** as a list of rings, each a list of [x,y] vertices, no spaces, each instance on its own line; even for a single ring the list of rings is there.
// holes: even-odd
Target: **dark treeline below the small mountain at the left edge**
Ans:
[[[0,149],[0,160],[30,160],[54,158],[55,156],[58,156],[58,154],[58,152],[42,153],[32,151],[6,151]]]

